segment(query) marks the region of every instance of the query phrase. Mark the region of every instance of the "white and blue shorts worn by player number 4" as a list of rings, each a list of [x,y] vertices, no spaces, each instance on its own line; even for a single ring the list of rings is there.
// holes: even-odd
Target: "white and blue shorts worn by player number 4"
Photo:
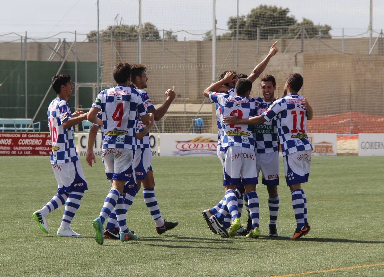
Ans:
[[[101,151],[104,158],[107,179],[129,181],[132,178],[134,150],[125,148],[106,148]]]

